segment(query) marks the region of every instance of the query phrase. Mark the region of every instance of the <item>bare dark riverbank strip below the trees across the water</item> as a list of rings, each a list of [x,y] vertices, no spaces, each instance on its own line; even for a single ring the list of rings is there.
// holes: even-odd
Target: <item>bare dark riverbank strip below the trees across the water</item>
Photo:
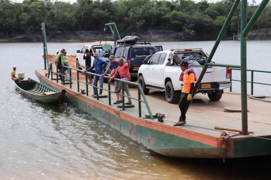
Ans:
[[[125,33],[125,35],[131,35]],[[152,30],[140,31],[133,33],[140,38],[140,40],[147,40],[153,42],[163,41],[213,41],[216,36],[201,36],[201,35],[187,35],[184,32]],[[224,40],[239,40],[240,35],[224,36]],[[271,29],[260,29],[251,31],[248,40],[271,40]],[[16,35],[9,38],[0,38],[0,42],[41,42],[42,36],[40,32],[32,35]],[[101,31],[71,31],[71,32],[47,32],[48,42],[93,42],[93,41],[113,41],[113,36],[110,32],[104,33]]]

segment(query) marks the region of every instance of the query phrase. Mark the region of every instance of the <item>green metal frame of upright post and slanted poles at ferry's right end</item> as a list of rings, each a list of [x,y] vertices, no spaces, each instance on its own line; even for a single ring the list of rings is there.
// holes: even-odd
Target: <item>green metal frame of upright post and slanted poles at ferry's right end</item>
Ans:
[[[249,22],[247,23],[247,0],[242,0],[241,1],[241,25],[240,25],[240,42],[241,42],[241,62],[240,62],[240,71],[241,71],[241,113],[242,113],[242,134],[248,134],[248,127],[247,127],[247,88],[246,88],[246,84],[247,84],[247,79],[246,79],[246,36],[249,33],[249,31],[252,29],[253,25],[256,23],[256,20],[258,19],[258,17],[260,16],[260,14],[262,13],[262,11],[264,10],[264,8],[266,7],[266,5],[268,4],[269,0],[263,0],[261,1],[261,3],[259,4],[258,8],[256,9],[255,13],[252,15],[252,17],[250,18]],[[193,91],[193,96],[195,95],[195,93],[198,90],[198,87],[201,83],[201,80],[208,68],[208,66],[212,65],[212,66],[226,66],[226,67],[230,67],[230,68],[236,68],[236,65],[232,66],[229,64],[215,64],[215,63],[210,63],[214,53],[216,52],[216,49],[223,37],[223,35],[226,32],[227,27],[229,26],[230,20],[232,19],[232,16],[235,12],[235,10],[238,7],[238,4],[240,3],[240,0],[236,0],[228,14],[228,17],[226,18],[226,21],[216,39],[216,42],[212,48],[212,51],[202,69],[202,72],[197,80],[197,83],[195,85],[194,91]],[[247,23],[247,24],[246,24]],[[191,104],[192,100],[189,102],[188,104],[188,108]],[[187,108],[187,109],[188,109]]]

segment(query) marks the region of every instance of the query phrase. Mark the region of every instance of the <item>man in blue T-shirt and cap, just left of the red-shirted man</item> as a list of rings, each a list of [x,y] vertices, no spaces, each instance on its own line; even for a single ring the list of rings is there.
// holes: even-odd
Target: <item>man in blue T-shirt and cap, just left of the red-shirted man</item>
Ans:
[[[111,76],[113,76],[113,74],[114,74],[115,71],[116,71],[116,68],[119,66],[119,63],[116,61],[116,58],[115,58],[114,55],[110,55],[109,60],[110,60],[110,62],[111,62],[110,67],[108,67],[108,68],[105,70],[104,74],[102,74],[102,77],[103,77],[106,73],[109,72],[109,70],[111,70],[110,75],[108,75],[108,79],[110,79]],[[119,74],[117,75],[116,78],[117,78],[117,79],[121,79]],[[121,95],[119,94],[119,92],[120,92],[119,81],[114,81],[114,84],[115,84],[115,93],[116,93],[116,96],[117,96],[117,100],[116,100],[116,102],[114,102],[114,104],[120,104],[120,103],[122,103],[122,100],[121,100],[122,97],[121,97]]]

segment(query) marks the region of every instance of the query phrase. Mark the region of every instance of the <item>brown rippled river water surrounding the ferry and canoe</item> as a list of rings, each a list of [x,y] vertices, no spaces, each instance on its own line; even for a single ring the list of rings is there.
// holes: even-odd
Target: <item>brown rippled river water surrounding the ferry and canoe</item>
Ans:
[[[164,50],[203,48],[210,53],[214,42],[154,44],[162,44]],[[48,53],[62,47],[72,55],[81,48],[75,43],[48,43]],[[222,42],[215,62],[239,64],[238,48],[239,42]],[[270,48],[271,41],[249,41],[248,68],[269,70]],[[71,104],[45,105],[26,97],[10,78],[12,66],[17,66],[17,73],[37,79],[34,70],[43,68],[42,53],[42,43],[0,43],[0,179],[270,178],[270,156],[226,159],[226,163],[165,157],[116,135]],[[261,74],[255,78],[269,83],[271,79]],[[239,91],[240,85],[234,85],[233,90]],[[268,86],[254,90],[271,96]]]

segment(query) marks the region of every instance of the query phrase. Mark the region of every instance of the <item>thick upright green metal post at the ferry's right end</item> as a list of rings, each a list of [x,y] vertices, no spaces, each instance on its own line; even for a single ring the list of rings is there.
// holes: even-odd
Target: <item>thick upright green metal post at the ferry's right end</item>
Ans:
[[[247,23],[247,0],[241,2],[241,110],[242,110],[242,133],[248,134],[247,128],[247,88],[246,88],[246,37],[243,30]]]

